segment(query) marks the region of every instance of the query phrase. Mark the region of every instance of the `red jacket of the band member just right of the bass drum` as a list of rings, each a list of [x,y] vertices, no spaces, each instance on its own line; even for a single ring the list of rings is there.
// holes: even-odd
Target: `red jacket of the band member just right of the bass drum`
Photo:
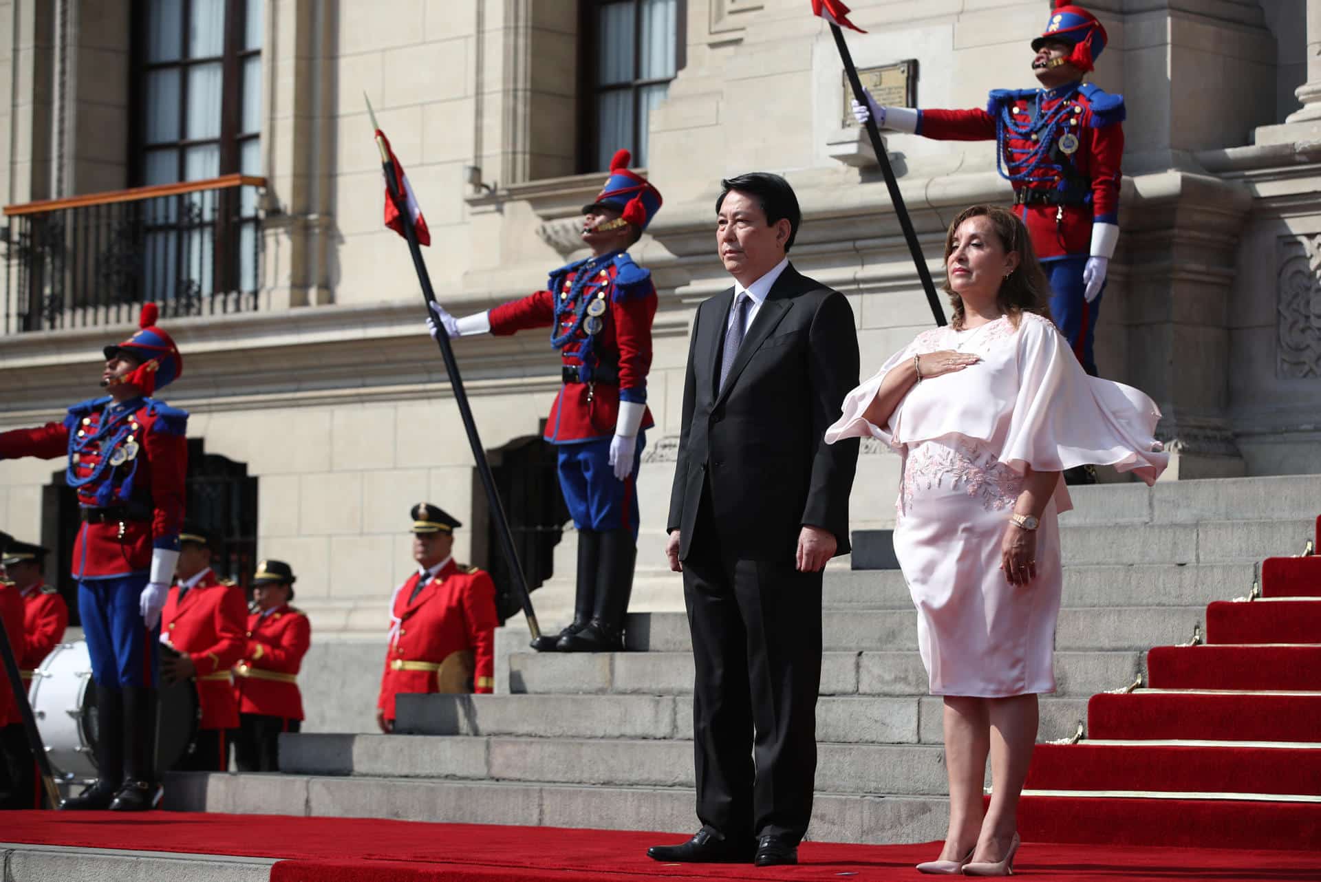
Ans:
[[[214,572],[207,570],[182,601],[178,599],[177,585],[169,590],[161,613],[161,640],[188,655],[197,668],[202,729],[235,729],[239,725],[230,668],[247,646],[243,636],[246,621],[243,589],[219,581]]]

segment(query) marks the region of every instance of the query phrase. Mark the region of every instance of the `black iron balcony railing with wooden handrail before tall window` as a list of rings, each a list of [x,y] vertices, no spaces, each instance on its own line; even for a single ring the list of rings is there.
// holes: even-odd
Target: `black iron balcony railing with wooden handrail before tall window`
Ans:
[[[258,309],[266,178],[92,193],[5,206],[4,333]]]

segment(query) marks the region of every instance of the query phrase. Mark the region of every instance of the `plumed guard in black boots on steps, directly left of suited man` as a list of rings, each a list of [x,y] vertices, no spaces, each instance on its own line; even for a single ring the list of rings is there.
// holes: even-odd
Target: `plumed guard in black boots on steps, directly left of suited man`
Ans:
[[[485,313],[436,317],[450,337],[513,334],[551,327],[564,386],[546,421],[546,441],[559,445],[560,490],[577,528],[573,622],[538,650],[580,652],[624,648],[624,617],[637,560],[637,477],[647,411],[651,273],[627,254],[660,209],[660,193],[630,172],[620,151],[596,202],[583,207],[583,242],[592,256],[551,272],[546,290]],[[432,335],[437,333],[431,322]]]

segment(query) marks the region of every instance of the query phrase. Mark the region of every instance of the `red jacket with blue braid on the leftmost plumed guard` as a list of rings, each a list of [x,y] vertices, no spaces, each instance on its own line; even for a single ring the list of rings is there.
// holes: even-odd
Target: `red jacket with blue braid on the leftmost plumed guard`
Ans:
[[[186,432],[185,411],[148,397],[120,407],[107,396],[73,405],[62,423],[0,433],[0,459],[67,454],[70,474],[87,482],[78,487],[79,506],[131,512],[123,529],[118,522],[78,527],[74,578],[111,578],[148,572],[153,547],[178,549]],[[107,457],[111,462],[124,458],[103,467]],[[98,469],[99,477],[91,479]]]

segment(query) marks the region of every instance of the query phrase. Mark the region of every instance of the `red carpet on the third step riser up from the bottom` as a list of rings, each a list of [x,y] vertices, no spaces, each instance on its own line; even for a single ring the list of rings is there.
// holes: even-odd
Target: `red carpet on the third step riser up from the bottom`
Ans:
[[[1317,741],[1321,695],[1098,695],[1087,737],[1103,739]]]

